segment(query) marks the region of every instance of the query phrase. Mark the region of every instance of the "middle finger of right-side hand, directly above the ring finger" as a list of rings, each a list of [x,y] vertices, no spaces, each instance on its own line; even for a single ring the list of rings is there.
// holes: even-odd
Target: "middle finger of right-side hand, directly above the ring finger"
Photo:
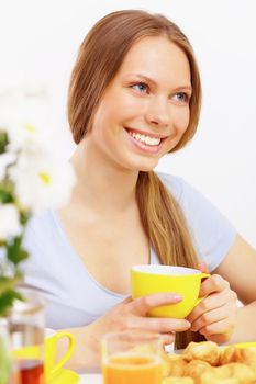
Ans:
[[[231,303],[233,305],[235,302],[236,294],[229,289],[224,290],[221,293],[212,293],[211,295],[203,298],[186,318],[190,323],[194,323],[204,313],[220,308],[226,303]]]

